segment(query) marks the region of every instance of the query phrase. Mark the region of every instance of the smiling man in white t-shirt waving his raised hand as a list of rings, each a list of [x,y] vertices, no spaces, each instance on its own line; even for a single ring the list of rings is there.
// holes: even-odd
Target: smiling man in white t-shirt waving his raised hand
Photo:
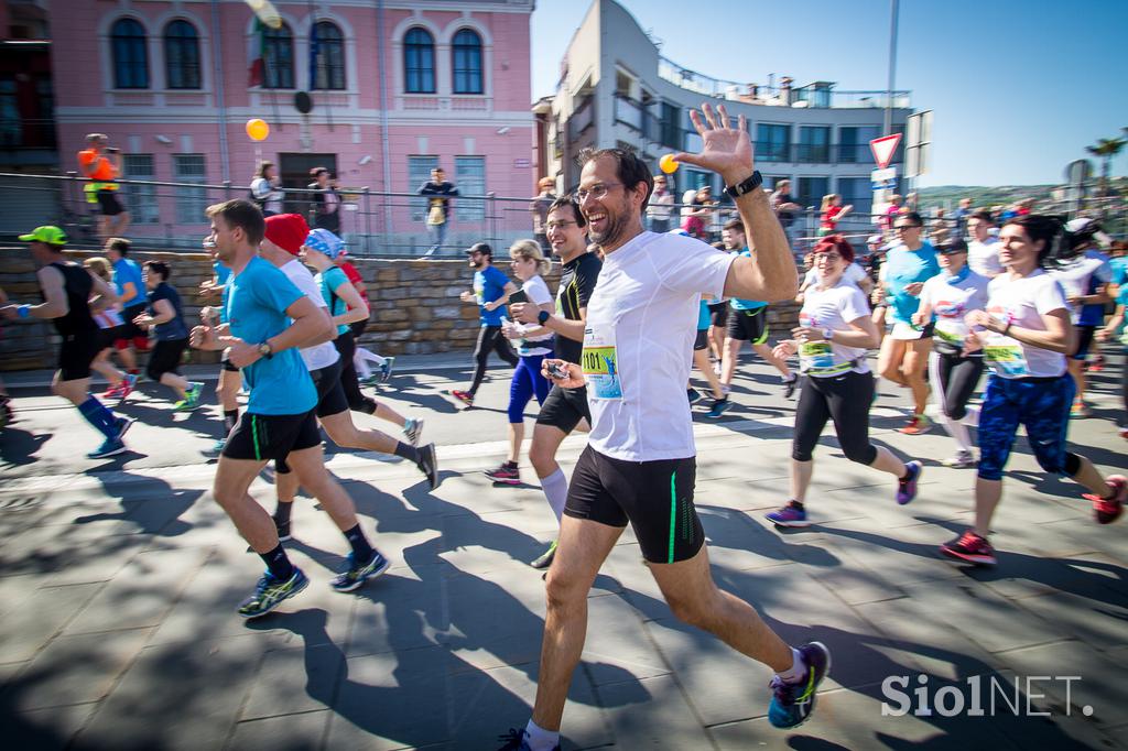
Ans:
[[[546,360],[566,388],[588,386],[591,438],[572,476],[556,559],[547,576],[547,615],[532,718],[510,746],[558,748],[569,683],[583,652],[587,598],[629,522],[673,613],[724,639],[775,672],[769,721],[793,727],[813,709],[829,668],[818,643],[793,650],[738,598],[713,583],[693,503],[695,453],[685,398],[703,293],[778,301],[796,286],[795,264],[752,165],[747,123],[729,127],[723,105],[690,113],[698,154],[679,161],[720,173],[735,198],[756,258],[704,242],[646,232],[642,214],[653,178],[634,153],[594,151],[583,159],[575,195],[591,241],[603,250],[588,303],[581,363]]]

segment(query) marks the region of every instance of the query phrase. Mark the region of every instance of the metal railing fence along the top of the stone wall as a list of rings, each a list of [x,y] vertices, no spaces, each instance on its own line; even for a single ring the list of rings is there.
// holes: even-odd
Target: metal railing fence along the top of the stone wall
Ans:
[[[87,201],[87,179],[74,174],[64,176],[0,173],[0,196],[8,211],[0,214],[0,238],[14,240],[21,232],[42,223],[62,227],[79,248],[96,248],[98,240],[98,206]],[[246,198],[249,187],[205,183],[167,183],[155,180],[120,180],[122,203],[131,214],[125,235],[141,246],[194,250],[208,233],[204,209],[230,198]],[[306,187],[285,188],[282,210],[306,215],[312,224],[312,195],[320,191]],[[360,256],[415,258],[422,256],[434,238],[425,226],[428,200],[411,193],[385,193],[361,188],[338,188],[342,198],[338,235],[350,251]],[[495,194],[464,195],[451,198],[448,231],[442,247],[434,254],[458,257],[474,242],[485,241],[504,250],[521,238],[532,237],[532,198]],[[699,206],[694,206],[699,209]],[[681,204],[671,206],[667,229],[682,223]],[[1122,197],[1086,198],[1078,211],[1065,202],[1042,202],[1034,209],[1060,215],[1090,215],[1101,219],[1104,230],[1117,239],[1128,237],[1128,204]],[[735,215],[731,203],[717,204],[705,220],[705,237],[720,240],[725,221]],[[926,229],[936,224],[925,218]],[[951,219],[940,220],[957,237],[960,228]],[[796,256],[814,244],[819,235],[820,215],[817,206],[795,212],[787,229]],[[647,227],[662,229],[647,219]],[[882,230],[881,217],[865,211],[848,214],[838,223],[838,231],[862,247],[866,237]]]

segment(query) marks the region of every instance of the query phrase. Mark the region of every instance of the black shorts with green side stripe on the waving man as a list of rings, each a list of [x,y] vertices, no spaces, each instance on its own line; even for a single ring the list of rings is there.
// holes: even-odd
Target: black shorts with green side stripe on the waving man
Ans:
[[[687,560],[705,544],[694,507],[696,476],[694,457],[624,461],[589,445],[572,471],[564,513],[608,527],[631,522],[646,560]]]

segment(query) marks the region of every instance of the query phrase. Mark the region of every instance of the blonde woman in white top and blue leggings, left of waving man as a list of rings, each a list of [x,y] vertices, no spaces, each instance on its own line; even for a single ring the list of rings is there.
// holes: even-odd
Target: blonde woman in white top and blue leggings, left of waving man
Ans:
[[[510,247],[509,255],[513,259],[513,273],[522,282],[521,292],[526,300],[540,310],[553,312],[553,295],[545,280],[540,279],[549,267],[540,244],[536,240],[518,240]],[[509,302],[511,297],[502,295],[487,302],[485,307],[496,310]],[[519,360],[509,383],[509,456],[500,467],[486,471],[486,477],[494,483],[519,485],[521,476],[517,466],[521,460],[521,442],[525,440],[525,407],[534,396],[537,397],[537,404],[544,404],[552,389],[552,383],[540,372],[540,363],[553,355],[553,333],[535,324],[527,326],[506,319],[502,319],[501,332],[506,338],[513,339]]]

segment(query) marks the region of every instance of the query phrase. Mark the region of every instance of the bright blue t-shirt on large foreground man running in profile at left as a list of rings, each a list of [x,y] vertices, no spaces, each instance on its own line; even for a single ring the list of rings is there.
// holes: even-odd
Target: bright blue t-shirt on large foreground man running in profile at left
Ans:
[[[290,319],[285,309],[305,297],[287,275],[255,256],[228,284],[227,319],[231,334],[247,344],[277,336]],[[317,406],[317,389],[296,347],[261,357],[243,369],[250,389],[247,412],[255,415],[302,415]]]

